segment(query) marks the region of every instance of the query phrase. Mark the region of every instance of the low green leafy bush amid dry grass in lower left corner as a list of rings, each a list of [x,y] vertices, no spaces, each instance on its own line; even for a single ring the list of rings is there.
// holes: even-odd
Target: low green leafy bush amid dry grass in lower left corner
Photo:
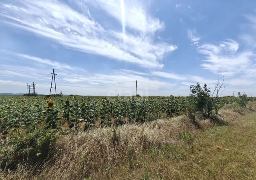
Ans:
[[[19,163],[40,163],[48,157],[52,146],[58,138],[58,132],[54,129],[40,128],[31,133],[14,135],[0,145],[1,169],[14,169]]]

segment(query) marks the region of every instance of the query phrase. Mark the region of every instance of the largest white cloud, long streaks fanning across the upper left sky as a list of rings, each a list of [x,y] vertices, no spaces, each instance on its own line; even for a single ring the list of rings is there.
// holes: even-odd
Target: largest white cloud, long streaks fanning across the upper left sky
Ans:
[[[122,19],[120,1],[88,1],[84,6],[88,4],[97,4],[107,14],[119,21]],[[164,65],[161,60],[177,46],[154,41],[154,33],[164,30],[164,23],[150,16],[142,5],[133,2],[124,4],[126,26],[139,32],[127,31],[126,50],[123,48],[122,32],[107,29],[96,22],[88,8],[87,11],[78,12],[57,0],[24,0],[15,4],[2,4],[0,20],[74,50],[99,54],[146,68],[162,68]]]

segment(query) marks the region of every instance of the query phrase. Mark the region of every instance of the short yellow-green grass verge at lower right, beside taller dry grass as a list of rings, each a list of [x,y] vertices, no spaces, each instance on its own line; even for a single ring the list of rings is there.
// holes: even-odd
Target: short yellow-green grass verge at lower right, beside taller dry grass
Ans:
[[[138,160],[139,168],[118,167],[111,178],[255,179],[255,138],[254,112],[232,126],[218,126],[196,134],[192,144],[183,141],[176,146],[149,150]]]

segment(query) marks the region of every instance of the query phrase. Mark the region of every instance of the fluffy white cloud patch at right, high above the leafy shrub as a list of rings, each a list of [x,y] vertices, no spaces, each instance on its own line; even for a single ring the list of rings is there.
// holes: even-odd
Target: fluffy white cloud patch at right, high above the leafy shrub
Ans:
[[[238,52],[239,44],[227,39],[219,44],[202,44],[198,46],[198,52],[204,55],[201,66],[216,74],[234,76],[237,73],[245,73],[252,66],[251,58],[254,53],[250,50]]]

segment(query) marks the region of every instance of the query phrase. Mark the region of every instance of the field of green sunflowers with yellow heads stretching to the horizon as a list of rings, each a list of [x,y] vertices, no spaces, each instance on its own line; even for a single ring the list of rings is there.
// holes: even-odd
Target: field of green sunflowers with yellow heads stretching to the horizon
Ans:
[[[191,97],[174,96],[0,96],[1,139],[38,128],[61,131],[89,130],[143,123],[185,114]],[[217,108],[241,101],[241,97],[219,97]],[[255,101],[256,98],[247,98]]]

